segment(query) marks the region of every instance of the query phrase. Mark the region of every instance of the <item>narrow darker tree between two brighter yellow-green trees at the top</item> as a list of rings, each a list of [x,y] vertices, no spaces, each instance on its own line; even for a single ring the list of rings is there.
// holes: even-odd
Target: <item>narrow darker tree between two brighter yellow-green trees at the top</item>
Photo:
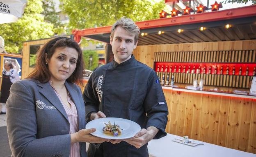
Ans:
[[[62,24],[59,15],[55,10],[55,2],[53,0],[42,0],[44,21],[53,24],[53,32],[55,34],[64,33],[65,24]]]

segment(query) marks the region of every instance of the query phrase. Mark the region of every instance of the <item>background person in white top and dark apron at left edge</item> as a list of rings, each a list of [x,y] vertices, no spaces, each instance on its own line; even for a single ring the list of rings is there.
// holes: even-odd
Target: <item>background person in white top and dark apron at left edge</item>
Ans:
[[[5,103],[10,95],[11,84],[20,80],[18,72],[14,69],[14,66],[11,62],[5,62],[4,70],[2,72],[2,84],[0,92],[0,103],[2,104],[1,114],[6,113]]]

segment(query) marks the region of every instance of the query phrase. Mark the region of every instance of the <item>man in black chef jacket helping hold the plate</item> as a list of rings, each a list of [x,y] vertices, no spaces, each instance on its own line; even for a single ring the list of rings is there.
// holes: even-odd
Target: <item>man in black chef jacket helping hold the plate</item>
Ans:
[[[158,76],[132,55],[139,27],[128,18],[113,24],[110,44],[114,60],[94,71],[85,87],[87,120],[130,119],[142,127],[135,137],[90,144],[88,157],[148,157],[147,143],[166,135],[168,109]]]

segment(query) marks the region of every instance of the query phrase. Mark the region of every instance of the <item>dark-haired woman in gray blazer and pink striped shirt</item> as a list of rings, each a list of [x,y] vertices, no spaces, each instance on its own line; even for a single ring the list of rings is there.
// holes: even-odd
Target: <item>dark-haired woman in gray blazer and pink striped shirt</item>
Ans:
[[[55,38],[39,51],[28,79],[11,86],[7,100],[7,132],[11,157],[87,157],[85,142],[106,139],[85,129],[79,45]]]

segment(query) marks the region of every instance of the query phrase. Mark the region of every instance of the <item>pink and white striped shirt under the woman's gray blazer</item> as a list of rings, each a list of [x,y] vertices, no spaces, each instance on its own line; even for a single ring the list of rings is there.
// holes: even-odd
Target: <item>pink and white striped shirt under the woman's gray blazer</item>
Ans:
[[[50,82],[50,84],[51,84],[51,82]],[[53,88],[53,89],[54,89],[56,95],[58,96],[59,101],[62,103],[62,106],[64,107],[64,109],[66,111],[66,114],[68,115],[69,124],[70,124],[69,134],[77,132],[78,131],[78,114],[77,114],[75,104],[71,100],[71,97],[70,97],[69,93],[68,93],[68,96],[67,96],[67,100],[68,100],[69,104],[71,104],[71,108],[69,108],[68,106],[66,106],[63,103],[60,95],[57,93],[55,88]],[[69,157],[80,157],[79,142],[71,144]]]

